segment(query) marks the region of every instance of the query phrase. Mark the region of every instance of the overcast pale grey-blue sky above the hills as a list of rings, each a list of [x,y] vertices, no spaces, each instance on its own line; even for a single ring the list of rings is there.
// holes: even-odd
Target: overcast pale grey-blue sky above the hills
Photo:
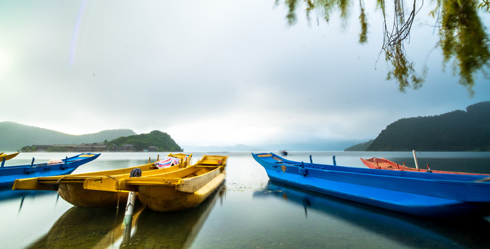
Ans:
[[[0,1],[0,122],[261,145],[369,140],[399,118],[490,100],[481,74],[469,98],[450,64],[444,71],[426,10],[406,44],[415,68],[428,66],[426,82],[402,93],[378,60],[382,20],[372,3],[368,44],[359,45],[357,1],[348,19],[334,12],[328,23],[313,12],[308,24],[299,6],[294,26],[274,2]]]

